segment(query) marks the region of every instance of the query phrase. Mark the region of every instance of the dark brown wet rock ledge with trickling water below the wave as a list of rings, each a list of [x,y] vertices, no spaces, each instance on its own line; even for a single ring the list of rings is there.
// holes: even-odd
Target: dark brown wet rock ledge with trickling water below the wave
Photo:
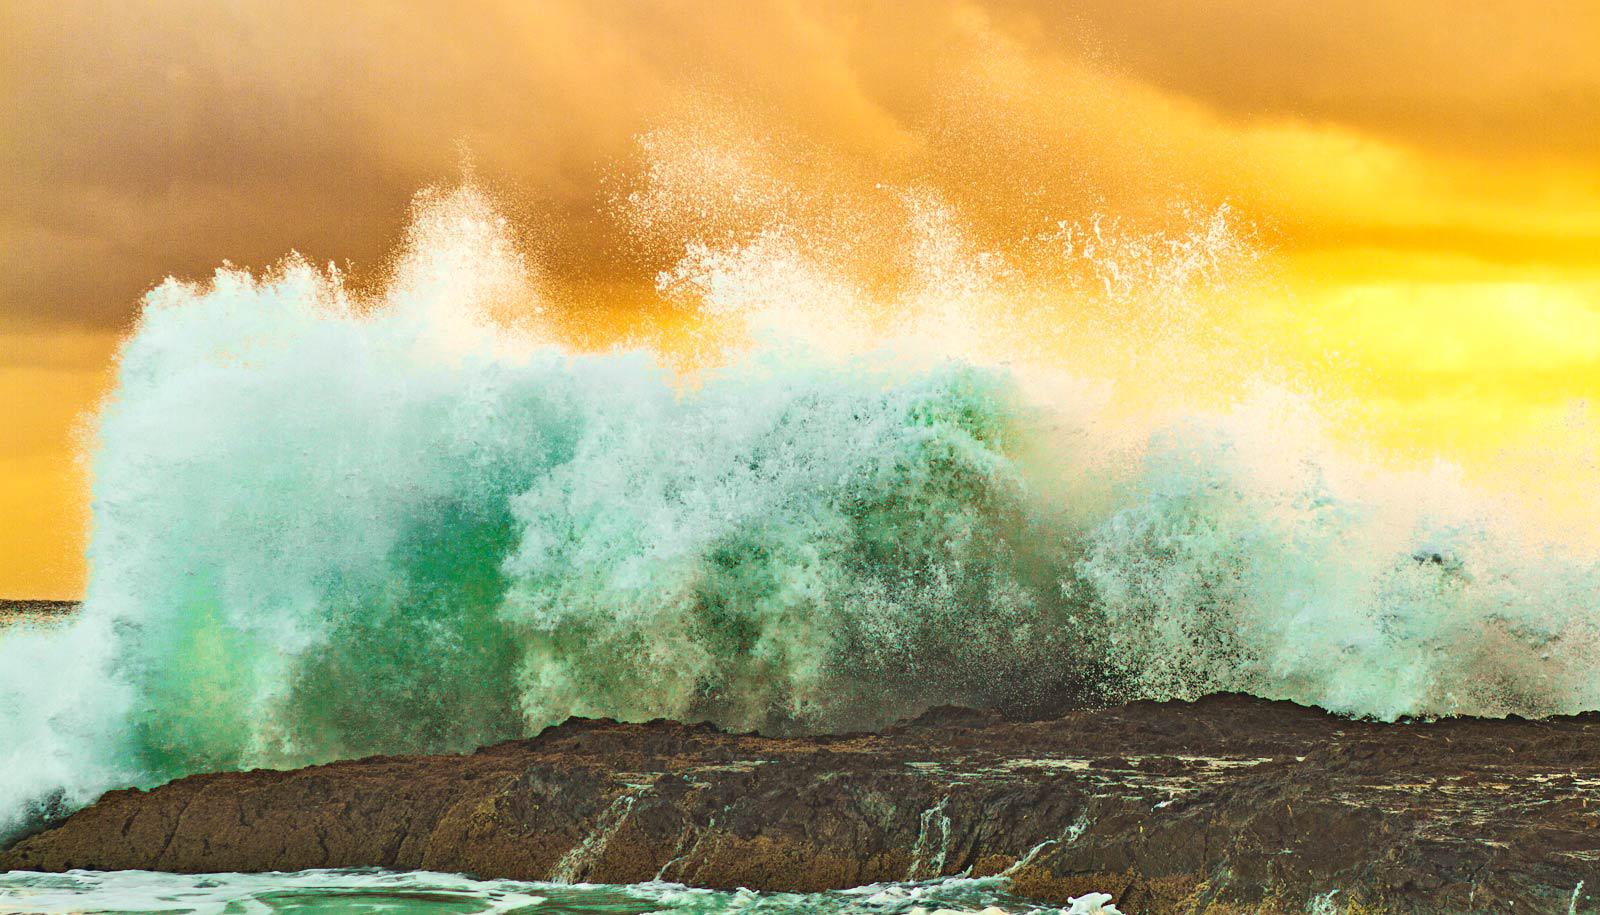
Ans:
[[[0,869],[392,867],[819,891],[1006,873],[1123,912],[1600,910],[1600,713],[1352,721],[1213,696],[880,734],[573,720],[462,757],[118,790]]]

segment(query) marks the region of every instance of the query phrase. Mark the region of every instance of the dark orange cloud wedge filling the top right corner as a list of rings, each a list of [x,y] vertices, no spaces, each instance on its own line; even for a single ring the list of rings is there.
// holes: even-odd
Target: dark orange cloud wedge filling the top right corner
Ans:
[[[1230,117],[1336,123],[1440,152],[1600,154],[1600,8],[1586,0],[1000,0],[1042,45]]]

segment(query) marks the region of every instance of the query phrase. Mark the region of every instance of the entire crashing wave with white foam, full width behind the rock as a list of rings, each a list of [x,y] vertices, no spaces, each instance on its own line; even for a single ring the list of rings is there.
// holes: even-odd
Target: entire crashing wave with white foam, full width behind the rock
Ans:
[[[781,221],[685,242],[662,296],[734,341],[693,374],[554,342],[560,302],[470,187],[419,198],[378,294],[301,258],[154,290],[99,416],[82,614],[0,635],[0,832],[570,715],[1600,707],[1594,555],[1342,458],[1291,394],[1107,414],[1115,379],[992,333],[1027,304],[1003,258],[894,205],[888,304]],[[1224,216],[1050,243],[1107,307],[1171,310],[1240,254]]]

